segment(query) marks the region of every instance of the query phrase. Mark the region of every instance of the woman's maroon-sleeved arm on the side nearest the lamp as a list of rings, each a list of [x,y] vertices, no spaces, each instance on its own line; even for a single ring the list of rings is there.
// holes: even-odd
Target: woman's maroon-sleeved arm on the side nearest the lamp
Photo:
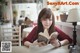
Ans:
[[[64,42],[66,42],[66,43],[68,43],[68,42],[72,43],[73,40],[67,34],[65,34],[62,30],[60,30],[56,26],[55,26],[55,30],[59,33],[59,35],[58,35],[57,38],[61,41],[62,45],[63,45]]]

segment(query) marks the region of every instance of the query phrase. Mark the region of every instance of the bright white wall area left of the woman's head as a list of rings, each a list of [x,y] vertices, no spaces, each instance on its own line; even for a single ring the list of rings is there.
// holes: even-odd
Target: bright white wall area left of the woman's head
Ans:
[[[14,8],[15,7],[15,8]],[[27,16],[32,21],[36,21],[38,17],[38,11],[37,11],[37,4],[36,3],[18,3],[13,4],[13,10],[17,10],[18,16],[17,16],[17,24],[18,20],[20,18],[21,11],[25,11],[24,18]]]

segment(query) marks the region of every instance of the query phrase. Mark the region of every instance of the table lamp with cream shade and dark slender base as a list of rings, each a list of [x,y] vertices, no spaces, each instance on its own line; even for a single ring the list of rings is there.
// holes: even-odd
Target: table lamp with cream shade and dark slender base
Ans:
[[[79,9],[73,8],[69,11],[68,18],[66,20],[66,22],[70,22],[74,26],[74,29],[73,29],[73,42],[72,42],[72,45],[69,46],[69,47],[71,47],[71,49],[74,48],[74,46],[76,45],[76,42],[77,42],[76,41],[76,37],[77,37],[76,26],[77,26],[77,22],[80,21],[80,15],[79,14],[80,14]]]

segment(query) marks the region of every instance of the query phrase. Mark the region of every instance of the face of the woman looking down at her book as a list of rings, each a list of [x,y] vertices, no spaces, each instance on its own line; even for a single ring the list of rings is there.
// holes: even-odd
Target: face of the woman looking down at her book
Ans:
[[[50,18],[41,18],[44,29],[49,29],[52,25],[52,16]]]

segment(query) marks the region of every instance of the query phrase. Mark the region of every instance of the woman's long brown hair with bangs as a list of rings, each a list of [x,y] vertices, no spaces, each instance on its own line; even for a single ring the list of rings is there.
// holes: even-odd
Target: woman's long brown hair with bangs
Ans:
[[[40,33],[40,32],[43,32],[43,31],[44,31],[43,25],[42,25],[42,23],[41,23],[41,19],[42,19],[42,18],[43,18],[43,19],[44,19],[44,18],[50,19],[51,16],[52,16],[52,25],[50,26],[48,32],[49,32],[49,34],[51,34],[52,32],[54,32],[54,24],[55,24],[54,15],[53,15],[53,13],[52,13],[52,11],[51,11],[50,8],[43,8],[43,9],[41,10],[41,12],[39,13],[39,16],[38,16],[38,32],[37,32],[37,33]]]

